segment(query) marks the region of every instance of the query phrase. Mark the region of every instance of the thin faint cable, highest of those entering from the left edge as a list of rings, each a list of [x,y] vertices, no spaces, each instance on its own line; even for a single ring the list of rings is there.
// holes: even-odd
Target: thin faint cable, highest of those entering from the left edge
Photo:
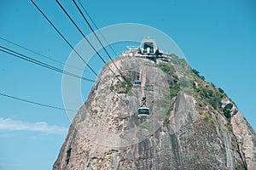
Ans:
[[[3,38],[3,37],[0,37],[0,39],[2,39],[2,40],[5,41],[5,42],[9,42],[9,43],[11,43],[11,44],[13,44],[13,45],[15,45],[15,46],[17,46],[17,47],[19,47],[19,48],[23,48],[23,49],[25,49],[26,51],[31,52],[32,54],[37,54],[37,55],[39,55],[39,56],[42,56],[42,57],[44,57],[45,59],[49,59],[49,60],[55,61],[56,63],[59,63],[59,64],[61,64],[61,65],[66,65],[67,67],[70,67],[70,68],[73,68],[73,69],[82,70],[82,69],[79,69],[79,68],[77,68],[77,67],[75,67],[75,66],[73,66],[73,65],[67,65],[67,64],[65,64],[64,62],[61,62],[61,61],[59,61],[59,60],[57,60],[57,59],[53,59],[53,57],[49,57],[49,56],[47,56],[47,55],[40,54],[40,53],[38,53],[37,51],[34,51],[34,50],[30,49],[30,48],[26,48],[26,47],[24,47],[24,46],[21,46],[21,45],[18,44],[18,43],[11,42],[11,41],[9,41],[9,40]]]

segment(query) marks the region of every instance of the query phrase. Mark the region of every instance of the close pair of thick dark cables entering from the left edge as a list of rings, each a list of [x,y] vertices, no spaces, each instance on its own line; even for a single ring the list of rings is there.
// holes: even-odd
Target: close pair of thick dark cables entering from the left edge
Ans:
[[[26,60],[26,61],[29,61],[29,62],[35,64],[35,65],[43,66],[44,68],[48,68],[48,69],[50,69],[50,70],[52,70],[52,71],[57,71],[57,72],[66,74],[66,75],[71,76],[71,77],[76,77],[76,78],[82,79],[82,80],[84,80],[84,81],[96,82],[96,81],[91,80],[91,79],[89,79],[89,78],[80,77],[80,76],[78,76],[78,75],[76,75],[76,74],[73,74],[73,73],[71,73],[71,72],[63,71],[63,70],[61,70],[61,69],[59,69],[59,68],[57,68],[57,67],[55,67],[55,66],[48,65],[48,64],[46,64],[46,63],[44,63],[44,62],[41,62],[41,61],[39,61],[39,60],[37,60],[37,59],[32,59],[31,57],[28,57],[28,56],[26,56],[26,55],[24,55],[24,54],[20,54],[20,53],[18,53],[18,52],[15,52],[14,50],[11,50],[11,49],[9,49],[9,48],[4,48],[3,46],[0,46],[0,51],[4,52],[4,53],[6,53],[6,54],[13,55],[13,56],[15,56],[15,57],[17,57],[17,58],[24,59],[24,60]]]

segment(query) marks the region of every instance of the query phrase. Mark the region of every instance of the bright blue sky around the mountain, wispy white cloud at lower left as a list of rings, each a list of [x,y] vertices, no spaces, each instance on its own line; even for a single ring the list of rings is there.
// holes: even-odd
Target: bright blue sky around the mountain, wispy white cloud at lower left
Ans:
[[[73,45],[82,40],[83,37],[55,1],[35,2]],[[166,32],[177,42],[189,65],[200,71],[208,82],[223,88],[256,129],[255,1],[81,2],[99,28],[120,23],[139,23]],[[64,0],[61,3],[78,20],[85,34],[90,34],[73,4]],[[1,1],[0,37],[61,62],[66,62],[72,51],[32,3],[26,0]],[[29,53],[2,39],[0,45],[63,68],[61,64]],[[121,54],[126,50],[126,45],[115,44],[113,47]],[[105,56],[105,59],[108,60],[108,57]],[[102,66],[99,62],[90,63],[96,71]],[[63,107],[61,77],[60,73],[0,52],[0,93]],[[91,86],[90,82],[82,82],[84,100]],[[65,111],[0,96],[0,169],[51,169],[67,136],[69,125]]]

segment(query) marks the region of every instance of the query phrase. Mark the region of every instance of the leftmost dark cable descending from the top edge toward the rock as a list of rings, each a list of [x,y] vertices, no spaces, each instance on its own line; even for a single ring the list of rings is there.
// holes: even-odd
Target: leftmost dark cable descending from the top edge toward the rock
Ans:
[[[61,38],[62,38],[65,42],[67,42],[68,46],[73,49],[73,51],[79,56],[80,59],[82,59],[82,61],[84,62],[84,64],[89,67],[90,71],[92,71],[92,72],[96,75],[96,77],[98,77],[98,78],[100,79],[100,81],[102,81],[101,77],[99,77],[99,76],[97,75],[96,71],[94,71],[94,70],[90,67],[90,65],[83,59],[83,57],[79,54],[79,52],[78,52],[75,48],[73,48],[73,46],[71,45],[71,43],[67,41],[67,38],[64,37],[64,36],[61,34],[61,31],[59,31],[59,30],[55,27],[55,25],[49,20],[49,18],[44,14],[44,12],[38,7],[38,5],[37,5],[36,3],[34,3],[32,0],[30,0],[30,1],[31,1],[32,4],[38,9],[38,11],[44,16],[44,19],[49,22],[50,26],[52,26],[52,27],[55,29],[55,31],[61,36]],[[103,81],[102,81],[102,82],[103,82]]]

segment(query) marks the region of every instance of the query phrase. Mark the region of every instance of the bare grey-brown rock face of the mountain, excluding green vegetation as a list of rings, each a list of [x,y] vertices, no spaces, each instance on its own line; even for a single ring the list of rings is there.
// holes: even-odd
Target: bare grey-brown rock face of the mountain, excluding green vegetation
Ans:
[[[212,122],[196,111],[192,94],[175,85],[147,59],[115,60],[126,79],[140,77],[142,87],[119,86],[103,68],[103,82],[96,82],[90,96],[73,119],[67,139],[53,169],[253,169],[256,166],[256,136],[234,106],[231,124],[218,111],[209,111]],[[113,64],[109,64],[113,71]],[[180,74],[180,73],[179,73]],[[124,94],[126,93],[126,94]],[[150,109],[148,119],[139,119],[143,96]],[[223,105],[231,103],[223,100]],[[234,114],[236,112],[236,114]]]

